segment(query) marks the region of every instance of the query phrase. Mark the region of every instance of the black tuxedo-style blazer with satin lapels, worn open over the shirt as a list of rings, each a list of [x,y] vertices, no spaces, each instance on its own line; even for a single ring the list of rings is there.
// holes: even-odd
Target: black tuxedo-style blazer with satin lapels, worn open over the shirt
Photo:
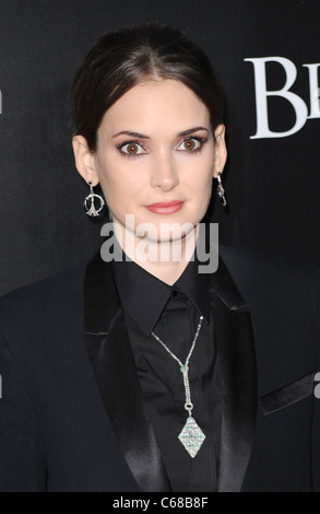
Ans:
[[[316,271],[220,255],[218,490],[320,491]],[[170,491],[109,264],[8,294],[0,330],[1,491]]]

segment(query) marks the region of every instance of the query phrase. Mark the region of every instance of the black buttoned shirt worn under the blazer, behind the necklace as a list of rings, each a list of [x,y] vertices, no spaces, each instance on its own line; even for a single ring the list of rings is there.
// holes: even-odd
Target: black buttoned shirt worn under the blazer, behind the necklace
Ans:
[[[145,407],[173,491],[217,489],[221,385],[208,274],[190,261],[167,285],[131,260],[112,262]],[[200,316],[202,327],[189,362],[192,417],[205,434],[192,458],[178,440],[187,418],[182,373],[163,342],[185,363]]]

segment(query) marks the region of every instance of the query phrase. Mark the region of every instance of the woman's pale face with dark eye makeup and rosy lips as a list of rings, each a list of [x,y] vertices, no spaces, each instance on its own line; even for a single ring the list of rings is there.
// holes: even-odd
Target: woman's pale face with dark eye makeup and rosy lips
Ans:
[[[100,183],[114,222],[125,226],[133,214],[135,227],[153,223],[159,235],[162,223],[194,226],[203,218],[226,160],[224,126],[213,136],[209,109],[189,87],[147,81],[106,112],[90,166],[78,168]]]

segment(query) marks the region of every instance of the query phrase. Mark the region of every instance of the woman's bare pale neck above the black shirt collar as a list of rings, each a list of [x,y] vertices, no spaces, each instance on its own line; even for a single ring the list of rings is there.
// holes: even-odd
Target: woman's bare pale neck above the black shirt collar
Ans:
[[[137,237],[114,223],[115,235],[125,254],[157,279],[173,285],[190,261],[197,244],[197,227],[181,238],[167,242]]]

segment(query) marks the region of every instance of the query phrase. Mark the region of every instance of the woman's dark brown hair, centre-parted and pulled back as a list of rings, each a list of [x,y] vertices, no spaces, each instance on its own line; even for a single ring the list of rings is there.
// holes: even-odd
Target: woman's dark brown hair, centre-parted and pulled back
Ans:
[[[206,105],[213,130],[224,119],[224,100],[206,55],[176,28],[143,24],[103,36],[88,51],[72,85],[75,135],[91,151],[104,114],[145,80],[175,79]]]

